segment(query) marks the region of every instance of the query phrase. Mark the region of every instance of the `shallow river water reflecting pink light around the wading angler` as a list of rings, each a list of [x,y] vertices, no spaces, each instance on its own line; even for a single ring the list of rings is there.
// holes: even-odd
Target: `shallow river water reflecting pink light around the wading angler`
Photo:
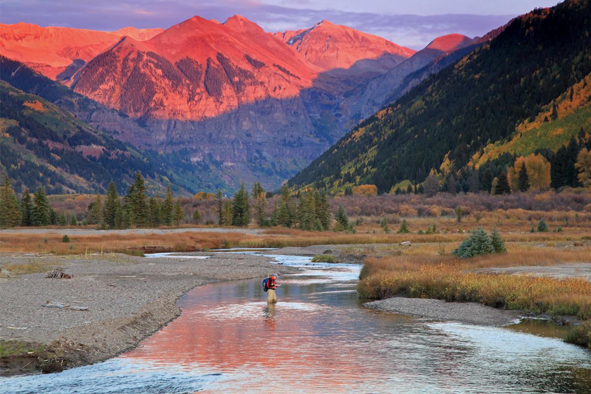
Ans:
[[[246,252],[252,253],[252,252]],[[359,265],[195,288],[180,317],[116,359],[0,379],[2,393],[591,393],[589,351],[507,328],[363,307]]]

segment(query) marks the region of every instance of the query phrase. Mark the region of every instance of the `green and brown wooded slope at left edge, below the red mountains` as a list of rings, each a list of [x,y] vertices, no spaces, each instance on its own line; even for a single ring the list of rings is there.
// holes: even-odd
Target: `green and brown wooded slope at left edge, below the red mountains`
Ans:
[[[95,193],[113,180],[123,192],[136,171],[151,187],[168,184],[171,171],[157,160],[40,96],[0,81],[0,99],[0,170],[15,190],[43,185],[48,193]]]

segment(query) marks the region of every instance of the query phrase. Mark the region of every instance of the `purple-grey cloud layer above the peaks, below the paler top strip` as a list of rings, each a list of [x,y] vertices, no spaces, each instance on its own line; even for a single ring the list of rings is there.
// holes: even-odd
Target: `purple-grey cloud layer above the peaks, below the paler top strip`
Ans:
[[[30,22],[42,26],[118,30],[124,26],[168,28],[193,15],[203,18],[226,18],[241,14],[267,31],[297,30],[323,19],[336,24],[376,34],[394,43],[422,48],[439,35],[457,32],[474,37],[505,24],[515,15],[395,15],[376,12],[353,12],[342,9],[291,8],[264,4],[256,0],[4,0],[2,23]],[[305,7],[307,4],[301,4]]]

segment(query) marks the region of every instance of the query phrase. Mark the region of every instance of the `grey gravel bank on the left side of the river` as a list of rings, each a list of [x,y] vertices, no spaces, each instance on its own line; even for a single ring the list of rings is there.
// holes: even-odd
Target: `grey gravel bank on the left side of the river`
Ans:
[[[199,254],[210,258],[4,253],[0,256],[4,276],[0,279],[0,340],[4,353],[21,346],[31,353],[1,357],[0,374],[50,372],[109,359],[176,318],[180,314],[176,300],[196,286],[262,277],[269,269],[294,271],[261,256]],[[37,272],[12,275],[7,266]],[[44,278],[54,267],[73,278]],[[44,307],[47,302],[88,309]]]

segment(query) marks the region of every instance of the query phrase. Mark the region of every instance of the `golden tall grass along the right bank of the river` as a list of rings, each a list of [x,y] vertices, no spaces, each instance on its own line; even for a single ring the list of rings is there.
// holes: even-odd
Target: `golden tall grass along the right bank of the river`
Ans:
[[[473,301],[492,307],[552,315],[591,317],[591,283],[579,278],[556,279],[525,275],[475,273],[490,266],[554,265],[589,261],[580,251],[521,252],[460,261],[451,256],[368,258],[358,291],[364,298],[406,295],[449,301]],[[516,256],[512,256],[515,254]]]

